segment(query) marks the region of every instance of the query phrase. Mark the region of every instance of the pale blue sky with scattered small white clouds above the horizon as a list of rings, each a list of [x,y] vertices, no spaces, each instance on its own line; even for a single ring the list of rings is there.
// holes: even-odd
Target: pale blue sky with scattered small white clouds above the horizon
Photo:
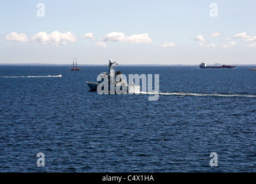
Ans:
[[[256,64],[255,20],[256,1],[1,0],[0,63]]]

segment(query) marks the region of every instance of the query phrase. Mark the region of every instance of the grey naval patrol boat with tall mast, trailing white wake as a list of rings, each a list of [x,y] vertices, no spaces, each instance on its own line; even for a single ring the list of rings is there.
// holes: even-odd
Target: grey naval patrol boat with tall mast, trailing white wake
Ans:
[[[111,84],[114,87],[115,91],[116,89],[122,90],[125,93],[140,93],[141,86],[135,86],[133,82],[131,82],[130,85],[128,85],[127,81],[122,78],[122,72],[116,71],[113,69],[114,66],[118,65],[116,62],[112,62],[112,60],[109,60],[108,64],[108,73],[107,72],[101,72],[101,74],[98,76],[97,80],[100,79],[100,81],[97,82],[86,82],[87,85],[90,88],[90,91],[97,91],[98,85],[103,82],[104,80],[108,81],[108,92],[111,91]],[[106,90],[103,89],[102,90]]]

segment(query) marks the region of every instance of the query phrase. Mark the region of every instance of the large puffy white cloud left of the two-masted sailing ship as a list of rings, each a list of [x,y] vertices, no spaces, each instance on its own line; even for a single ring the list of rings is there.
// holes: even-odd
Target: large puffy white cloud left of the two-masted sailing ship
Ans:
[[[55,30],[50,34],[47,34],[46,32],[36,33],[31,37],[31,40],[58,47],[61,45],[66,45],[69,42],[77,41],[77,37],[70,31],[67,33],[60,33]]]

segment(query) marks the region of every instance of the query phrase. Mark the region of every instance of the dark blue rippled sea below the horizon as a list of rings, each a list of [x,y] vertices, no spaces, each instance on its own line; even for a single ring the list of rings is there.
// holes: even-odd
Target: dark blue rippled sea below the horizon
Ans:
[[[81,68],[0,66],[0,172],[256,172],[250,67],[116,68],[159,74],[157,101],[89,91],[108,68]]]

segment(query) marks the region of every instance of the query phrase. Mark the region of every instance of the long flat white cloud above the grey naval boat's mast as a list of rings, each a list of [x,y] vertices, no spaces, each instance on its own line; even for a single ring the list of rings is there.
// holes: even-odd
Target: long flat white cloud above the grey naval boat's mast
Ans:
[[[100,41],[119,41],[119,42],[127,42],[127,43],[152,43],[152,40],[150,39],[148,33],[133,34],[131,36],[126,36],[125,33],[112,32],[102,37]]]

